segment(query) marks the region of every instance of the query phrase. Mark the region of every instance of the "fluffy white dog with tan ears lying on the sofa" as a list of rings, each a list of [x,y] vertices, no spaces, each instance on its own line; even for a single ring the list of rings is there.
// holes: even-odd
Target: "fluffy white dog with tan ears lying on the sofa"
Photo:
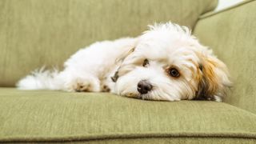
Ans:
[[[149,27],[138,38],[95,42],[72,55],[64,70],[34,71],[17,86],[166,101],[224,96],[230,86],[226,65],[187,27],[171,22]]]

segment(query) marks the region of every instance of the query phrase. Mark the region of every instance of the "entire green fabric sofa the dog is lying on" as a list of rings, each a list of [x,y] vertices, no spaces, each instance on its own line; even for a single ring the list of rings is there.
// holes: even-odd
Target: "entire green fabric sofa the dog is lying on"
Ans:
[[[0,0],[0,142],[256,143],[256,1]],[[209,12],[209,13],[206,13]],[[189,26],[226,62],[224,102],[154,102],[109,93],[17,90],[92,42],[137,36],[153,22]]]

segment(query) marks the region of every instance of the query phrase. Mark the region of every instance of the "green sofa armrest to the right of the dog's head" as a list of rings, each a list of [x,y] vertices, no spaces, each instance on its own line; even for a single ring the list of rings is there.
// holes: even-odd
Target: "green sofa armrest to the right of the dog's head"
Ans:
[[[225,102],[256,114],[256,1],[206,15],[194,34],[230,69],[234,87]]]

